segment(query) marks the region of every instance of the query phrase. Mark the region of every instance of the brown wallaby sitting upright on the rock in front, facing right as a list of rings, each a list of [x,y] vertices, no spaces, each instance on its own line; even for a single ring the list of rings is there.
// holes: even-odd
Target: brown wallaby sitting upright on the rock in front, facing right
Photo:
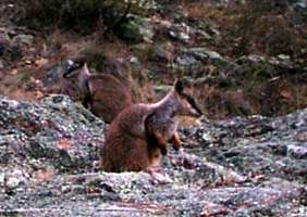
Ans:
[[[184,92],[182,80],[159,102],[134,104],[124,108],[111,123],[101,149],[105,171],[139,171],[159,166],[170,141],[181,146],[176,132],[177,116],[199,117],[200,110]]]

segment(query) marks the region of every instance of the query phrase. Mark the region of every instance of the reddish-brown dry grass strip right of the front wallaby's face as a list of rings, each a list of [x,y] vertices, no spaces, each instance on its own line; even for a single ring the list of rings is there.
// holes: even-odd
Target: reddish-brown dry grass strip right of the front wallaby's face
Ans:
[[[281,78],[248,87],[248,91],[242,89],[244,87],[223,90],[201,84],[194,87],[194,95],[201,99],[201,108],[210,119],[253,114],[280,116],[307,106],[307,86],[298,80]]]

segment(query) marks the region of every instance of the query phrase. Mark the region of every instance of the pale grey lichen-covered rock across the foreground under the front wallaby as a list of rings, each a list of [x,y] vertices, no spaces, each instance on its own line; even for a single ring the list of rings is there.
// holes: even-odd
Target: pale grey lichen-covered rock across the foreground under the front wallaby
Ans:
[[[307,110],[202,117],[154,174],[100,171],[107,128],[64,95],[1,98],[0,216],[307,215]]]

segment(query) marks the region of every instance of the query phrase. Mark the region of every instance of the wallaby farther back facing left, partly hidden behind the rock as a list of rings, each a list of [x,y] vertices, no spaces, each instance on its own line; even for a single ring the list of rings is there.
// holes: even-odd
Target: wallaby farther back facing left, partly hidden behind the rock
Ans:
[[[71,62],[64,78],[76,76],[83,105],[95,115],[111,123],[120,112],[131,106],[130,89],[110,74],[91,74],[84,61]]]

